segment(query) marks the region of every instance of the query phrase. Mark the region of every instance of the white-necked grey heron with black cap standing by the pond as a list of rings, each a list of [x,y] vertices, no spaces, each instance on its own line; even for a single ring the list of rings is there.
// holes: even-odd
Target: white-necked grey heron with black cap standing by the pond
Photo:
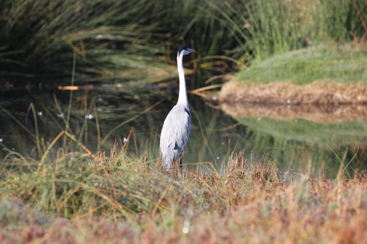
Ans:
[[[177,70],[180,81],[177,104],[168,113],[162,127],[159,143],[162,166],[168,172],[171,164],[180,158],[182,167],[182,152],[190,136],[191,113],[187,100],[183,56],[195,52],[194,49],[181,45],[177,52]]]

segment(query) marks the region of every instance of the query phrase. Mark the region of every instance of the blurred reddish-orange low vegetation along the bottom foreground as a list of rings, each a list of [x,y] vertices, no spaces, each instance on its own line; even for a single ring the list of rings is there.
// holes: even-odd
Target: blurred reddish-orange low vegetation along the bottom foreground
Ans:
[[[106,218],[49,219],[40,223],[21,214],[17,228],[2,224],[1,242],[36,243],[366,243],[366,181],[335,184],[325,179],[255,184],[237,196],[228,182],[228,200],[236,202],[224,215],[195,207],[129,221]],[[236,200],[238,199],[238,200]],[[32,210],[34,211],[34,210]],[[182,232],[189,222],[189,232]],[[15,223],[14,223],[15,224]]]

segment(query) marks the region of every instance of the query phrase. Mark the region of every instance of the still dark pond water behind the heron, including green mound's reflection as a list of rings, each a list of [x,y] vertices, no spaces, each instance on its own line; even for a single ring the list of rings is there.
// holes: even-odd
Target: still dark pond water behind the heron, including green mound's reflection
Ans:
[[[157,162],[160,130],[177,100],[177,87],[160,88],[161,85],[145,88],[98,86],[97,89],[73,91],[70,116],[73,134],[92,152],[101,149],[108,155],[115,138],[122,145],[133,127],[126,152],[137,156],[147,152],[150,160]],[[22,155],[37,157],[36,143],[26,132],[27,129],[36,133],[30,103],[35,106],[40,137],[49,145],[65,129],[70,93],[70,90],[42,88],[3,92],[0,105],[19,123],[0,110],[1,145]],[[207,106],[199,96],[189,95],[189,101],[192,131],[185,148],[183,161],[186,164],[211,162],[221,170],[233,152],[243,151],[247,162],[251,158],[256,162],[265,157],[274,160],[282,171],[290,168],[301,174],[311,170],[318,175],[323,167],[328,176],[335,177],[341,161],[344,164],[351,161],[347,166],[350,174],[356,169],[367,168],[366,120],[316,123],[241,114],[232,114],[232,117],[226,113],[228,111]],[[156,106],[143,112],[155,103]],[[62,146],[60,141],[55,149]],[[69,151],[76,149],[66,146]],[[5,155],[5,151],[0,151],[1,158]]]

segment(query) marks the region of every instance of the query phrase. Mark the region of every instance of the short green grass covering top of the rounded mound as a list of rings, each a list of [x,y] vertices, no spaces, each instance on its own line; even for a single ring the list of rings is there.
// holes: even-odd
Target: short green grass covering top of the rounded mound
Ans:
[[[236,79],[254,83],[306,84],[315,80],[366,83],[366,67],[367,49],[329,43],[275,55],[240,71]]]

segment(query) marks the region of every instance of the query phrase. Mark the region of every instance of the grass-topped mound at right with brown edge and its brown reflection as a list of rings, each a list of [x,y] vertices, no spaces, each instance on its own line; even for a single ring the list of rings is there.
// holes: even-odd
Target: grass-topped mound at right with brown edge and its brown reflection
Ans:
[[[228,113],[250,117],[365,119],[366,54],[363,44],[331,43],[274,56],[240,71],[224,84],[219,100]]]

